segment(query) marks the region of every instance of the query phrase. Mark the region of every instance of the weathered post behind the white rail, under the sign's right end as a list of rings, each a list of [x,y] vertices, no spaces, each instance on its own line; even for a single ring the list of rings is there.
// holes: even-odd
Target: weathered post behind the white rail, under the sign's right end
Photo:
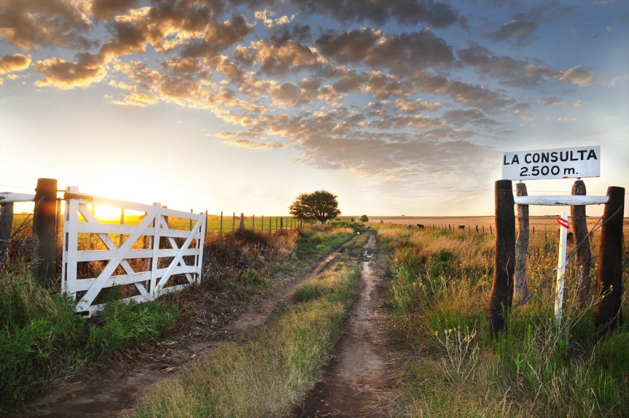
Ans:
[[[586,195],[586,187],[583,180],[577,180],[572,185],[572,194],[578,196]],[[590,266],[592,254],[590,252],[590,240],[588,239],[588,223],[586,221],[586,207],[570,206],[570,217],[572,218],[572,230],[574,231],[574,243],[577,243],[577,301],[581,308],[588,303],[590,296]]]

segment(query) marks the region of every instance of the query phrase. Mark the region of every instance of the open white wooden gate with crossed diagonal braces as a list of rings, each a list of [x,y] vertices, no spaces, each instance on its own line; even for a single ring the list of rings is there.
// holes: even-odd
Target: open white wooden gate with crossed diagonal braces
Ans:
[[[74,298],[77,312],[102,309],[99,294],[108,287],[120,286],[123,300],[143,302],[201,281],[205,212],[79,194],[78,187],[66,189],[65,201],[62,292]],[[97,218],[99,206],[121,208],[120,224]],[[138,224],[123,224],[125,209],[138,213]]]

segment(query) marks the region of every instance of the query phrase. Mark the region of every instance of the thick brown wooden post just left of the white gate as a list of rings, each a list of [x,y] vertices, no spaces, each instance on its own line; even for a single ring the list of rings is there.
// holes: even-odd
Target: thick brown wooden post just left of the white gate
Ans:
[[[35,189],[33,236],[35,263],[33,273],[52,282],[55,278],[55,221],[57,220],[57,179],[40,178]]]

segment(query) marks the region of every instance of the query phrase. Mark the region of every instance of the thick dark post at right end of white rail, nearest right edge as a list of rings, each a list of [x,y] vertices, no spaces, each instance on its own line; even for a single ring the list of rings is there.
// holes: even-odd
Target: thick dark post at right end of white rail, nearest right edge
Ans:
[[[603,212],[595,326],[600,333],[616,327],[623,295],[623,216],[625,189],[609,187],[609,201]]]

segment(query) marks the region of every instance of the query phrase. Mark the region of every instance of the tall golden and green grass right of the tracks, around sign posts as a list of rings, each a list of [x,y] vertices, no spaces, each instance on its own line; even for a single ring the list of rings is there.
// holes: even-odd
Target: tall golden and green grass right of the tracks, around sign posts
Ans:
[[[555,274],[552,238],[543,232],[531,238],[527,268],[534,296],[512,310],[508,333],[490,338],[486,308],[493,275],[492,236],[388,227],[379,228],[378,236],[391,259],[391,335],[416,353],[400,359],[400,415],[626,414],[629,326],[625,321],[606,338],[595,336],[594,296],[586,308],[571,300],[573,267],[566,275],[565,319],[556,324],[551,284],[540,287]],[[593,250],[593,277],[596,253]],[[625,254],[627,266],[627,249]],[[625,280],[628,273],[625,267]],[[627,305],[624,299],[623,312]]]

